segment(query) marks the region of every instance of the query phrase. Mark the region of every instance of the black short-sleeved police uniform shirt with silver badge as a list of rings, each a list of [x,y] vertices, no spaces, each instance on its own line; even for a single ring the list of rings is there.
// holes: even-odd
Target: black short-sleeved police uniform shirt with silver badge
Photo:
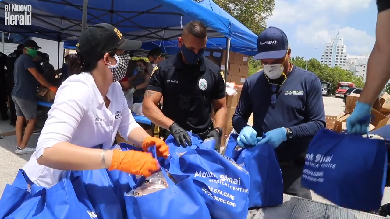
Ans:
[[[188,65],[181,53],[158,64],[147,90],[163,94],[163,114],[186,131],[206,132],[211,123],[211,100],[225,97],[225,78],[221,69],[208,58]]]

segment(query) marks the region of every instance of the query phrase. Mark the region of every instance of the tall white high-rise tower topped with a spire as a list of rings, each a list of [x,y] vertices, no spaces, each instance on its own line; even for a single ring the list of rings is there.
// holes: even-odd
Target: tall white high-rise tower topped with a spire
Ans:
[[[325,44],[324,53],[321,55],[321,63],[329,67],[342,66],[347,59],[347,47],[344,39],[337,32],[336,37],[332,37],[330,43]]]

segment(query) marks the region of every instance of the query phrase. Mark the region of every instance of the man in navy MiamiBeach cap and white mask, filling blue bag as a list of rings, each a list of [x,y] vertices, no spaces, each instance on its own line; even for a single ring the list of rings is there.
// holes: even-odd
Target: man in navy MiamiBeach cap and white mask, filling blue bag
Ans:
[[[313,72],[291,64],[287,35],[279,28],[264,30],[257,38],[257,50],[254,59],[261,61],[264,70],[243,85],[232,118],[237,142],[242,147],[268,143],[276,148],[284,193],[311,199],[300,177],[307,147],[325,126],[321,83]]]

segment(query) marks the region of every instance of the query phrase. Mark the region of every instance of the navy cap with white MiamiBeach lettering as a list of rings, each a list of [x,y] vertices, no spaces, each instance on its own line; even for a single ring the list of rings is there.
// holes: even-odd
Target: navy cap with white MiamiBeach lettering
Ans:
[[[254,60],[283,58],[289,47],[287,35],[277,27],[270,26],[257,37],[257,52]]]

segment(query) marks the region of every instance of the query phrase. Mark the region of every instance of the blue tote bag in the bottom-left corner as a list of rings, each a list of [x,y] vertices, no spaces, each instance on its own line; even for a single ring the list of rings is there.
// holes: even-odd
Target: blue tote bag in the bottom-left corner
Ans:
[[[2,219],[97,219],[80,178],[64,178],[45,188],[35,185],[19,170],[0,198]]]

